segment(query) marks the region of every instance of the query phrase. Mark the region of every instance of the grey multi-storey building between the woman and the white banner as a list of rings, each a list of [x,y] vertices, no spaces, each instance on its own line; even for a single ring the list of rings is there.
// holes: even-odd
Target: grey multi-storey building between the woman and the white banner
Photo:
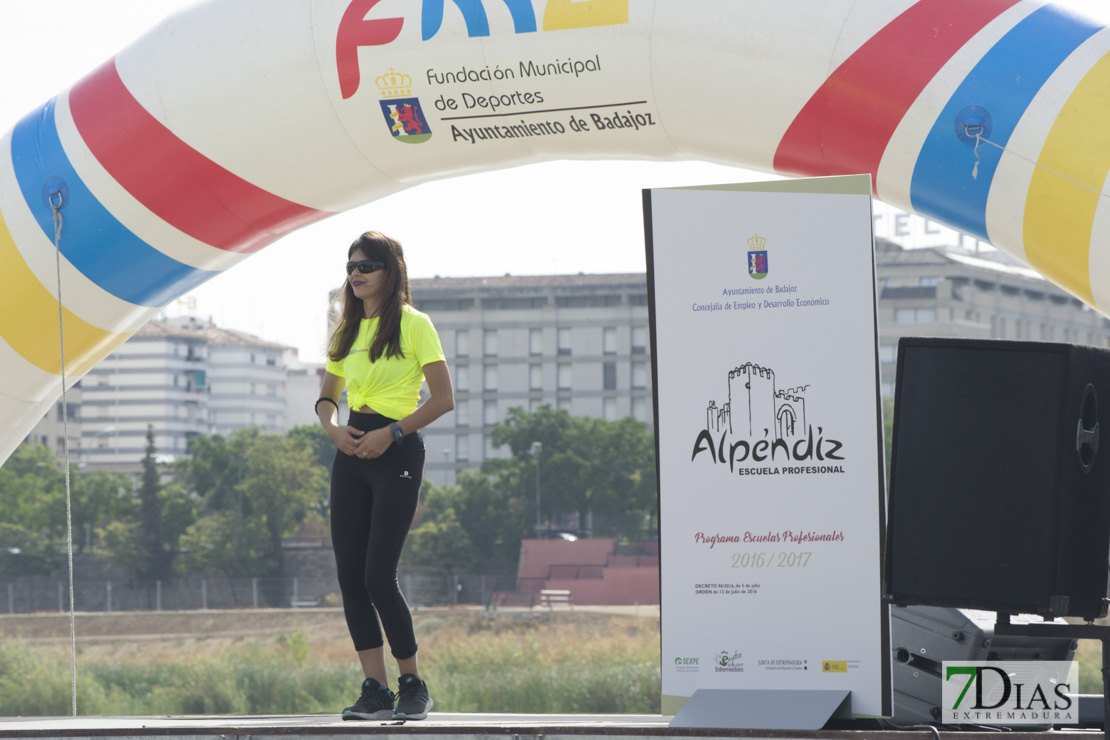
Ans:
[[[437,484],[482,460],[509,408],[652,423],[647,281],[643,273],[412,281],[455,385],[455,410],[424,430]]]

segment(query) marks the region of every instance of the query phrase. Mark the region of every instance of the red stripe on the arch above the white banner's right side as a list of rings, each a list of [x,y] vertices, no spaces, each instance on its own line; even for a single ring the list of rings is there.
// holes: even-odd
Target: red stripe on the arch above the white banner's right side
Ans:
[[[846,59],[790,123],[775,170],[871,173],[925,85],[987,23],[1019,0],[920,0]]]

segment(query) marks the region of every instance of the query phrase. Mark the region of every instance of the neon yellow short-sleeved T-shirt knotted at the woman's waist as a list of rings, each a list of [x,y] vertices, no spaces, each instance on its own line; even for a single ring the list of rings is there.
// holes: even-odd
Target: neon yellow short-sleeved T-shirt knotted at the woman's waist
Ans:
[[[412,306],[401,312],[401,352],[404,357],[382,355],[370,362],[370,345],[377,333],[377,318],[363,318],[351,352],[340,362],[329,358],[326,369],[346,381],[347,407],[370,406],[382,416],[404,418],[420,403],[424,365],[445,362],[440,335],[427,314]]]

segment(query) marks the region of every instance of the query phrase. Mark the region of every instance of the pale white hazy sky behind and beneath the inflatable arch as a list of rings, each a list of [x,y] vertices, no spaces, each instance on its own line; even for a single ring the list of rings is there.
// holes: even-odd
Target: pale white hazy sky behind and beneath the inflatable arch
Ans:
[[[0,131],[189,4],[2,0]],[[1110,0],[1062,4],[1110,22]],[[346,247],[367,229],[402,242],[413,277],[643,272],[642,189],[774,179],[703,162],[605,161],[426,183],[284,237],[190,294],[191,313],[295,346],[316,361],[326,292],[341,284]],[[183,304],[168,311],[190,312]]]

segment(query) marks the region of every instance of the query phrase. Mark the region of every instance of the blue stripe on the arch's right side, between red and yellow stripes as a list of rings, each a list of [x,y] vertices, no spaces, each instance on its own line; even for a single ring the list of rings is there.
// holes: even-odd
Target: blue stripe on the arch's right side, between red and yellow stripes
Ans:
[[[1102,27],[1051,6],[1030,13],[976,64],[952,94],[918,153],[910,181],[914,211],[979,239],[988,240],[987,196],[1001,150],[958,136],[960,112],[986,110],[983,136],[1005,146],[1033,97],[1056,69]],[[973,131],[972,131],[973,133]]]

